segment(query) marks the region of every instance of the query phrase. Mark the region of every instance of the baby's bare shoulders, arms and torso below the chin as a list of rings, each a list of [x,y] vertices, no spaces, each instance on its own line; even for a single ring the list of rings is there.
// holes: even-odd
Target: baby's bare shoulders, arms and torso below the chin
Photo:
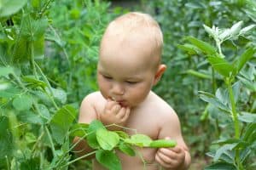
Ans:
[[[79,122],[89,123],[94,119],[101,120],[100,115],[104,112],[106,105],[108,104],[109,106],[112,105],[112,108],[119,105],[115,101],[104,99],[100,92],[90,94],[82,102],[80,113],[83,114],[80,114]],[[119,107],[121,108],[120,105]],[[110,108],[111,107],[109,107],[109,109]],[[119,117],[118,113],[114,110],[115,109],[113,109],[114,114],[117,114],[116,117]],[[121,111],[121,109],[119,109],[119,111]],[[130,116],[125,121],[125,124],[122,125],[131,129],[136,129],[136,131],[125,130],[126,133],[143,133],[148,135],[151,139],[165,139],[166,137],[169,137],[170,139],[177,141],[177,147],[172,149],[161,148],[159,150],[137,148],[139,154],[134,157],[126,156],[119,152],[118,156],[122,162],[122,169],[160,169],[160,163],[166,165],[166,167],[170,167],[166,169],[185,169],[186,162],[190,159],[188,148],[183,142],[177,115],[166,102],[153,92],[150,92],[147,99],[145,99],[139,107],[131,109],[129,115]],[[145,117],[147,117],[147,119],[145,119]],[[121,120],[119,118],[117,119]],[[140,155],[143,156],[145,164]],[[168,156],[174,157],[169,159]],[[172,164],[169,165],[168,162],[172,162]],[[180,164],[181,167],[176,167],[177,164]],[[100,170],[105,168],[94,161],[94,169]]]

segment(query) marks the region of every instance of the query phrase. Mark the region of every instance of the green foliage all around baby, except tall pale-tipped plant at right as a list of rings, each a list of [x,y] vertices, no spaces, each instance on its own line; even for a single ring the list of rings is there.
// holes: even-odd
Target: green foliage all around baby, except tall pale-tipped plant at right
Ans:
[[[232,157],[236,147],[248,150],[242,152],[243,168],[255,167],[255,54],[234,81],[244,143],[224,142],[235,136],[232,118],[216,106],[229,103],[224,78],[186,38],[215,46],[203,25],[217,26],[220,32],[240,20],[242,27],[255,25],[253,0],[142,0],[129,7],[100,0],[0,0],[0,169],[90,168],[90,161],[74,161],[72,151],[79,104],[97,89],[96,60],[104,28],[129,10],[152,14],[164,33],[168,69],[154,91],[180,117],[194,162],[190,168],[230,166],[227,152],[238,159]],[[255,42],[253,27],[221,48],[231,63],[255,48]],[[236,147],[218,150],[227,144]],[[229,168],[241,169],[236,166]]]

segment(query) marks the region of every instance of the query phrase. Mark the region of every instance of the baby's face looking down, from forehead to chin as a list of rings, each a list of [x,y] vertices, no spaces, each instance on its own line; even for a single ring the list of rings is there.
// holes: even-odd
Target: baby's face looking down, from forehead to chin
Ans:
[[[144,56],[143,49],[118,49],[102,49],[97,65],[98,85],[105,99],[113,99],[124,107],[135,107],[154,85],[155,69],[151,64],[154,61]]]

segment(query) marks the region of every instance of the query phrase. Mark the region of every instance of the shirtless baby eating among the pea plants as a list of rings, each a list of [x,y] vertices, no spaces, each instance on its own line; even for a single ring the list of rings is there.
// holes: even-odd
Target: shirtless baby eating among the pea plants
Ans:
[[[183,141],[177,114],[151,88],[166,71],[161,64],[163,36],[158,23],[148,14],[131,12],[107,27],[100,45],[97,81],[100,91],[82,101],[79,122],[100,120],[116,124],[109,130],[132,130],[151,139],[174,139],[174,148],[137,148],[137,156],[117,151],[124,170],[188,169],[189,150]],[[74,140],[79,141],[79,138]],[[85,140],[75,147],[82,156],[92,151]],[[143,160],[142,160],[143,157]],[[146,162],[146,163],[145,163]],[[93,168],[104,169],[94,160]]]

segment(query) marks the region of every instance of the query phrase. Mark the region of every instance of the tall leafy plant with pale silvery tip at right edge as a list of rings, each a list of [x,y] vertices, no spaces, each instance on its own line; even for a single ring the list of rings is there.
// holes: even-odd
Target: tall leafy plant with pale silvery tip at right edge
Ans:
[[[195,75],[212,77],[215,87],[213,94],[199,92],[200,98],[208,103],[204,118],[213,116],[219,122],[219,139],[212,142],[212,150],[207,154],[212,157],[213,163],[206,169],[241,170],[256,167],[256,48],[253,42],[248,42],[246,49],[236,46],[236,42],[241,41],[240,37],[246,38],[255,25],[242,28],[242,24],[239,21],[226,29],[204,25],[215,46],[195,37],[187,37],[188,43],[180,46],[189,54],[205,56],[212,68],[212,75],[193,71]],[[236,56],[229,55],[230,49],[222,48],[229,41],[236,46]]]

